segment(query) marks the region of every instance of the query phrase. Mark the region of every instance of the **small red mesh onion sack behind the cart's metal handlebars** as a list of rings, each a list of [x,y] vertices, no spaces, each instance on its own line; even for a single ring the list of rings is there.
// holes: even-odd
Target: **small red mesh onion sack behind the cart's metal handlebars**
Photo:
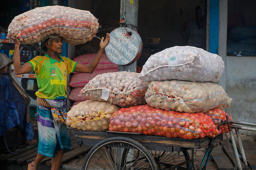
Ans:
[[[212,122],[216,125],[216,127],[220,124],[221,121],[225,121],[226,119],[226,115],[228,115],[226,112],[224,112],[223,110],[221,110],[220,108],[215,108],[215,109],[211,109],[208,110],[206,113],[204,113],[205,115],[208,115],[212,118]],[[228,115],[228,118],[232,120],[231,116]],[[228,125],[225,126],[220,126],[220,134],[224,134],[224,127],[226,132],[228,133]]]

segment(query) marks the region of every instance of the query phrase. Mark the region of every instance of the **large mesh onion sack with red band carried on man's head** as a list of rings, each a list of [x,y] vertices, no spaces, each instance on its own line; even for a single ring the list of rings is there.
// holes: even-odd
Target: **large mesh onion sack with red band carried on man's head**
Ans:
[[[37,7],[12,19],[7,37],[19,30],[21,44],[32,44],[56,33],[69,44],[91,41],[97,33],[99,23],[90,11],[65,6]]]

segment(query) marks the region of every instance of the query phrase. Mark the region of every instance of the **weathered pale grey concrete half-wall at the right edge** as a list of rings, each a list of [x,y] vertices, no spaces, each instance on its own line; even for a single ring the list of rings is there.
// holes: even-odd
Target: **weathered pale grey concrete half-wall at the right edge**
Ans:
[[[256,123],[256,57],[227,56],[226,92],[233,99],[226,112],[237,121]],[[256,132],[240,130],[256,138]]]

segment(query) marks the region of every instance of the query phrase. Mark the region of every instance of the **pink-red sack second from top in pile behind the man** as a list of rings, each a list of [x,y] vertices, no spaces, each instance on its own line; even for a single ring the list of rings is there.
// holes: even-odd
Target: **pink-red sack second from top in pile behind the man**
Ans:
[[[118,69],[103,69],[103,70],[96,70],[93,71],[92,74],[90,73],[77,73],[73,74],[69,81],[69,86],[71,87],[84,87],[92,78],[99,74],[109,73],[109,72],[117,72]]]

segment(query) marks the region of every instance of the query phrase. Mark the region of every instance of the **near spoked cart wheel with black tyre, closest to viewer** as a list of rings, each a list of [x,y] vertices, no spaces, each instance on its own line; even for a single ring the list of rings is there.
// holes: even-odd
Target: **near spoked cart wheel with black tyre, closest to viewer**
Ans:
[[[155,170],[156,162],[139,142],[126,137],[112,137],[92,147],[84,159],[82,169]]]

